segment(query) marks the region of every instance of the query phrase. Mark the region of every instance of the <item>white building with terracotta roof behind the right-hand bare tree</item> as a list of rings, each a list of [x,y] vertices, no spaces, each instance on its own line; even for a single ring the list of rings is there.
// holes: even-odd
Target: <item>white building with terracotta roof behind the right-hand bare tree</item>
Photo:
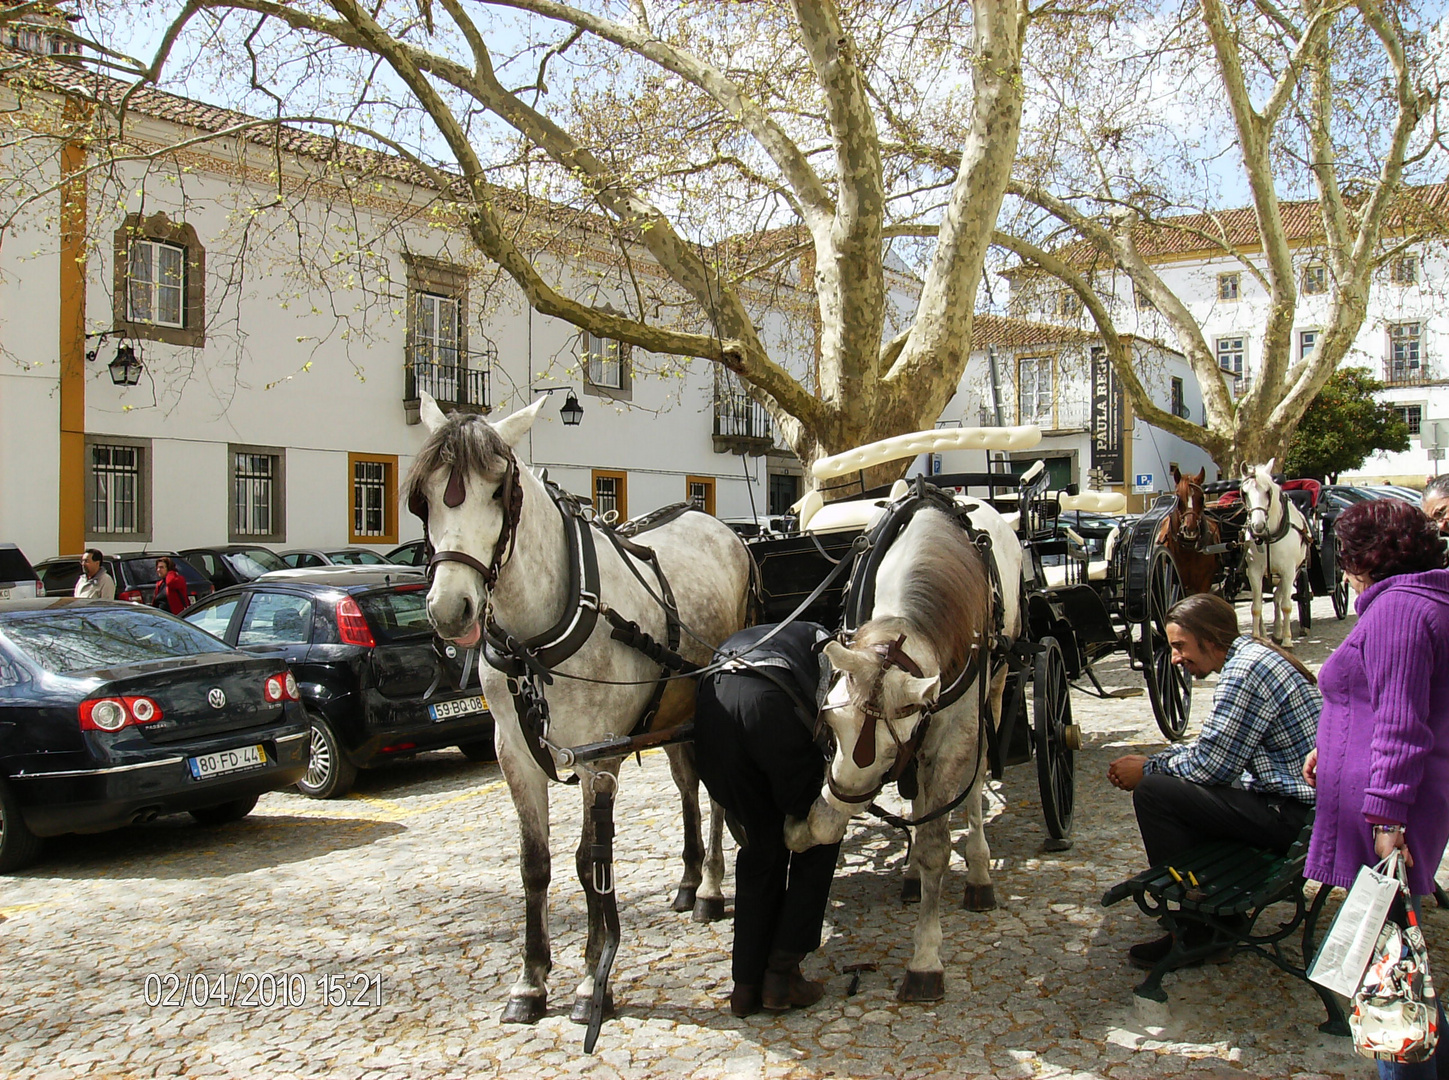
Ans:
[[[1410,188],[1406,196],[1427,215],[1437,215],[1449,200],[1449,186]],[[1298,275],[1298,322],[1293,332],[1293,349],[1294,358],[1301,358],[1314,346],[1326,325],[1332,281],[1321,255],[1317,203],[1285,202],[1282,216]],[[1258,251],[1253,210],[1226,210],[1211,219],[1188,215],[1166,225],[1188,228],[1143,229],[1139,251],[1197,319],[1224,377],[1245,387],[1262,365],[1262,328],[1269,297],[1239,259],[1220,251],[1206,251],[1206,244],[1194,238],[1194,229],[1198,235],[1222,230],[1230,245],[1252,258]],[[1385,244],[1397,242],[1392,236],[1385,238]],[[1101,258],[1094,257],[1088,245],[1075,245],[1066,254],[1085,267]],[[1077,296],[1055,278],[1029,271],[1016,271],[1009,277],[1013,312],[1069,325],[1091,325]],[[1119,326],[1145,339],[1175,341],[1168,322],[1151,304],[1137,300],[1124,274],[1110,267],[1095,270],[1094,284],[1110,296],[1111,316]],[[1437,346],[1449,342],[1446,284],[1449,261],[1442,236],[1408,246],[1378,271],[1364,328],[1342,365],[1365,367],[1388,386],[1382,400],[1401,410],[1413,445],[1404,454],[1377,455],[1365,462],[1358,475],[1345,475],[1345,483],[1365,480],[1421,487],[1426,477],[1443,471],[1432,451],[1436,442],[1449,445],[1449,370],[1436,361]],[[1201,416],[1194,415],[1194,419],[1201,420]]]

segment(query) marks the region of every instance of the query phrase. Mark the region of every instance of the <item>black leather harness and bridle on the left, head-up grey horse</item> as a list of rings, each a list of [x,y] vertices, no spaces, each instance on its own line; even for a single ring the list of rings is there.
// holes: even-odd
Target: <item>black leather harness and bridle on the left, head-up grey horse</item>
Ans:
[[[519,726],[523,731],[523,741],[533,755],[535,763],[538,763],[538,767],[543,770],[549,780],[559,781],[552,744],[548,739],[549,709],[543,687],[552,686],[554,668],[578,652],[584,642],[594,634],[600,615],[611,626],[610,638],[642,652],[659,664],[661,668],[659,677],[655,678],[649,702],[629,732],[630,736],[642,735],[653,722],[655,715],[659,712],[659,703],[664,699],[665,677],[669,673],[693,674],[698,670],[698,665],[685,660],[678,652],[681,636],[680,613],[674,602],[674,590],[669,587],[669,580],[664,573],[664,567],[659,565],[659,557],[655,551],[620,535],[619,531],[585,519],[582,504],[575,496],[552,483],[546,473],[542,480],[549,499],[554,502],[564,522],[564,544],[568,549],[568,594],[564,603],[564,613],[549,629],[520,639],[494,620],[490,607],[483,625],[483,655],[488,665],[500,671],[507,680],[509,694],[513,697],[513,707],[519,718]],[[459,506],[462,504],[464,494],[462,477],[458,468],[454,467],[448,477],[448,487],[443,491],[443,503],[449,507]],[[493,589],[498,580],[503,562],[513,549],[519,518],[523,512],[523,484],[519,481],[517,458],[511,452],[509,454],[504,481],[498,487],[496,497],[504,503],[504,516],[490,564],[484,565],[465,551],[435,551],[427,560],[429,577],[432,577],[433,568],[440,562],[462,562],[477,570],[488,587]],[[409,502],[409,509],[423,519],[426,531],[426,499],[414,494]],[[629,528],[632,535],[639,535],[640,532],[665,525],[693,509],[690,503],[667,506],[639,522],[630,523]],[[594,529],[598,529],[609,538],[619,551],[625,565],[629,567],[630,573],[645,587],[645,591],[664,609],[667,644],[655,641],[638,622],[625,618],[600,599],[598,551],[594,545]],[[653,570],[658,581],[658,594],[645,581],[638,567],[635,567],[633,560],[639,560]],[[565,783],[578,783],[578,776],[571,776]]]

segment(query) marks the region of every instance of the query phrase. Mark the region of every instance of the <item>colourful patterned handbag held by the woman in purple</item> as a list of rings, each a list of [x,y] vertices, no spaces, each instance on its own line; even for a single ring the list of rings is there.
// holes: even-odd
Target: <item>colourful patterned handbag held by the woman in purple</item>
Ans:
[[[1379,1061],[1414,1063],[1439,1044],[1439,1002],[1429,974],[1429,950],[1408,896],[1398,851],[1384,863],[1398,886],[1403,913],[1392,910],[1374,942],[1368,970],[1353,993],[1349,1029],[1353,1048]]]

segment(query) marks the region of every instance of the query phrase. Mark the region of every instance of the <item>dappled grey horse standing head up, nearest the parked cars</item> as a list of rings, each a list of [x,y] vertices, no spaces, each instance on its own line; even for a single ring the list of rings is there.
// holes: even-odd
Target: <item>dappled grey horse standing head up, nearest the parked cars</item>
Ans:
[[[543,400],[490,425],[478,416],[446,418],[433,399],[423,394],[422,419],[432,433],[414,460],[407,489],[410,504],[426,515],[427,539],[436,549],[427,591],[433,628],[462,648],[477,648],[485,635],[497,648],[497,642],[510,638],[514,644],[538,641],[561,626],[587,629],[597,610],[617,613],[664,644],[669,626],[656,596],[668,597],[672,590],[684,626],[678,652],[696,664],[709,662],[714,647],[745,623],[751,583],[751,557],[745,545],[726,525],[698,512],[682,513],[642,533],[639,542],[655,551],[665,586],[648,561],[626,555],[601,528],[584,522],[568,497],[551,494],[543,481],[519,464],[513,448],[532,426]],[[585,545],[597,552],[598,594],[588,596],[585,589],[580,602],[580,557],[574,551]],[[587,638],[569,642],[577,644],[577,649],[558,662],[556,676],[546,687],[540,680],[510,680],[490,665],[480,665],[483,690],[496,722],[498,763],[519,815],[526,900],[523,968],[510,990],[504,1022],[533,1023],[543,1015],[552,967],[548,932],[551,780],[545,770],[554,771],[556,758],[538,739],[536,713],[525,716],[527,731],[520,723],[513,687],[532,683],[543,693],[549,715],[546,738],[554,747],[630,734],[651,705],[662,673],[659,662],[613,639],[616,626],[597,618]],[[491,662],[501,662],[497,652],[490,657]],[[606,683],[572,681],[565,677],[569,674]],[[693,712],[694,680],[669,681],[652,729],[672,728],[690,719]],[[604,948],[604,903],[591,874],[594,822],[590,809],[596,790],[611,797],[620,764],[620,758],[613,758],[575,767],[584,803],[577,868],[588,902],[587,973],[574,1002],[572,1019],[577,1022],[590,1018],[594,970]],[[684,800],[685,826],[684,877],[675,910],[693,906],[697,921],[723,918],[723,815],[719,807],[713,809],[706,858],[693,748],[671,747],[669,765]]]

